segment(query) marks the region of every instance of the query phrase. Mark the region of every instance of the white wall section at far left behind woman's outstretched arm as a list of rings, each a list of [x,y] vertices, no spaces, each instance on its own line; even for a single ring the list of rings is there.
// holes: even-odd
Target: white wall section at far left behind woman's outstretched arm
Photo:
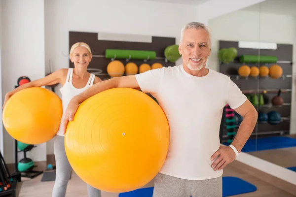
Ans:
[[[31,80],[44,77],[44,1],[2,0],[2,20],[3,99],[20,76]],[[14,139],[7,131],[3,134],[5,161],[14,163]],[[46,144],[37,145],[28,157],[35,162],[46,161]]]

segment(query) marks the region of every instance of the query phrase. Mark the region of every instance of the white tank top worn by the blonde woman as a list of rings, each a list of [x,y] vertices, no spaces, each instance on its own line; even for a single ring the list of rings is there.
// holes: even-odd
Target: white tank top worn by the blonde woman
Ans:
[[[73,68],[69,68],[66,82],[64,86],[60,89],[60,92],[62,93],[63,115],[67,109],[67,106],[70,100],[73,99],[73,97],[75,97],[76,95],[79,95],[80,93],[82,93],[87,88],[91,87],[95,80],[95,75],[91,73],[86,85],[83,88],[75,88],[72,83],[72,77],[73,77]],[[57,135],[64,136],[62,129],[63,129],[62,125],[60,125]]]

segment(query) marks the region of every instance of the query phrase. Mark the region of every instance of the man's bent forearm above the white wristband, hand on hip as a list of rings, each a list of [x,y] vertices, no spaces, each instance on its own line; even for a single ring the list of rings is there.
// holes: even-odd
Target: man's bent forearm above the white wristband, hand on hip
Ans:
[[[237,134],[231,143],[238,152],[242,150],[245,143],[251,136],[257,123],[257,112],[246,114],[242,123],[240,124]]]

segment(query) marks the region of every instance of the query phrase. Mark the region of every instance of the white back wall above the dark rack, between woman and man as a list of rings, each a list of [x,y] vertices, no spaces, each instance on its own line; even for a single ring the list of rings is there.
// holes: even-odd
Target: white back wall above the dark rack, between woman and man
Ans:
[[[196,20],[191,5],[141,0],[45,0],[45,64],[69,67],[69,31],[131,33],[177,37],[185,23]],[[114,6],[116,5],[116,6]],[[79,14],[78,14],[79,13]],[[179,64],[179,62],[177,63]],[[60,96],[60,86],[55,92]],[[47,142],[53,154],[53,141]]]

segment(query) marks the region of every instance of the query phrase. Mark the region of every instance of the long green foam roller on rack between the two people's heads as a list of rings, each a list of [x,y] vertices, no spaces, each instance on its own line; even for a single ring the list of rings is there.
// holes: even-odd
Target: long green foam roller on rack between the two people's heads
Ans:
[[[106,49],[105,58],[111,59],[132,59],[132,60],[154,60],[156,58],[155,51],[139,51],[139,50],[122,50],[122,49]]]

